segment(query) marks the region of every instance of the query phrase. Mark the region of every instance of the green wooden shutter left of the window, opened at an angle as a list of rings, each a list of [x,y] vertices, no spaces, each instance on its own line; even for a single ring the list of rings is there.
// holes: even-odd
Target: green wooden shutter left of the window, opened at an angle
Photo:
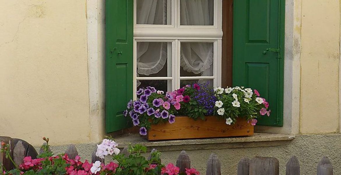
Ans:
[[[123,116],[133,97],[133,0],[105,2],[106,132],[129,127]]]

